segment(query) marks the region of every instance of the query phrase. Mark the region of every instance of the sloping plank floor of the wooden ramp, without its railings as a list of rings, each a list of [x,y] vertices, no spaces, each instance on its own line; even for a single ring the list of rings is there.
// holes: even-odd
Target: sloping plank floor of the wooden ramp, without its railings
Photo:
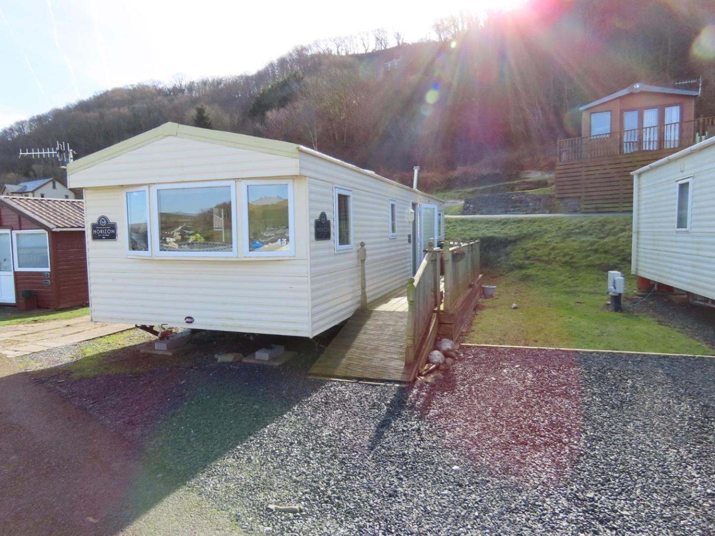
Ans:
[[[388,304],[393,298],[386,298],[384,304]],[[380,304],[383,304],[383,301],[370,305],[380,307]],[[415,364],[405,364],[407,315],[406,310],[379,308],[355,312],[313,364],[310,374],[394,382],[412,381]]]

